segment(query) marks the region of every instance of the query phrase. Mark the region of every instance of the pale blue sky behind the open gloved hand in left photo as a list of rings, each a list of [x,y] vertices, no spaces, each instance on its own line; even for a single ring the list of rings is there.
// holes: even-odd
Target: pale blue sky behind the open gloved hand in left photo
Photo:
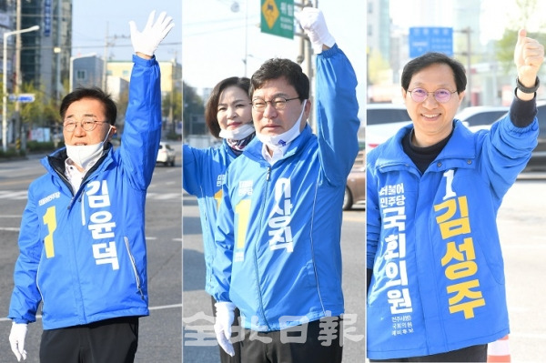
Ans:
[[[186,0],[193,1],[193,0]],[[129,21],[144,29],[148,15],[156,10],[173,17],[175,27],[157,48],[160,61],[182,58],[182,0],[76,0],[73,4],[72,55],[96,54],[130,60],[133,55]],[[197,1],[198,2],[198,1]],[[106,36],[107,35],[107,36]],[[107,39],[107,42],[106,42]],[[106,47],[106,43],[108,46]]]

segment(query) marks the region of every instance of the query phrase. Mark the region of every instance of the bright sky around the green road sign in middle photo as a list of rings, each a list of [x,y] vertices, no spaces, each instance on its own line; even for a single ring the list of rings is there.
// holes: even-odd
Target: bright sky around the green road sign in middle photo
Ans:
[[[233,11],[234,3],[238,4],[238,12]],[[200,92],[228,76],[252,76],[269,58],[279,56],[296,60],[299,37],[288,39],[261,33],[260,4],[258,0],[183,1],[182,61],[183,77],[188,86],[197,87],[197,92]],[[329,33],[355,69],[359,81],[357,96],[363,105],[366,2],[319,0],[319,8],[325,16]]]

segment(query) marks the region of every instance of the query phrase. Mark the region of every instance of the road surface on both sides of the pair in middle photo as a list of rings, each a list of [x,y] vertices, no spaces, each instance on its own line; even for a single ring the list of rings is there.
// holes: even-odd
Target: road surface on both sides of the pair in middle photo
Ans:
[[[184,361],[217,363],[218,346],[213,334],[211,297],[204,290],[205,260],[197,199],[183,197],[184,213]],[[365,210],[355,206],[343,213],[341,247],[345,297],[344,363],[364,361],[364,227]],[[349,318],[355,319],[349,324]]]

